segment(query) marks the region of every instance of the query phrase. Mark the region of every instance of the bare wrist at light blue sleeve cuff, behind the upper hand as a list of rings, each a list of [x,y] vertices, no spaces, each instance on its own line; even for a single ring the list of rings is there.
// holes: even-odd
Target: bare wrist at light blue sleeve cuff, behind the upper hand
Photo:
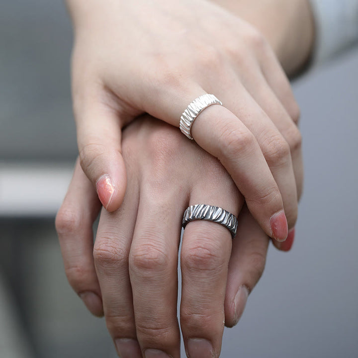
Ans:
[[[269,41],[287,75],[302,70],[314,44],[309,0],[213,0],[254,25]]]

